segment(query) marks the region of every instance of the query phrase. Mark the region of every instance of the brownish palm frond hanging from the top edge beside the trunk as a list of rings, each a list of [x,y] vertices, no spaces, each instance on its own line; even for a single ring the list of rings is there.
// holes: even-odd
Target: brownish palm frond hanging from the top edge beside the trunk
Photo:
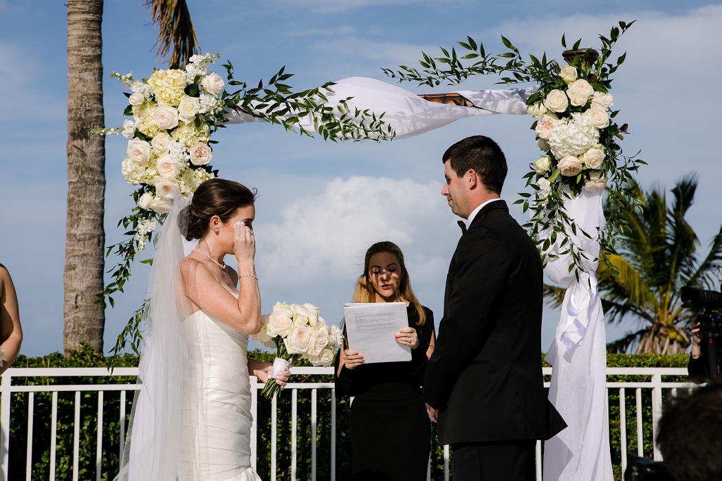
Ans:
[[[145,4],[150,6],[159,30],[155,42],[158,58],[165,58],[173,46],[168,64],[185,66],[193,54],[201,51],[186,0],[147,0]]]

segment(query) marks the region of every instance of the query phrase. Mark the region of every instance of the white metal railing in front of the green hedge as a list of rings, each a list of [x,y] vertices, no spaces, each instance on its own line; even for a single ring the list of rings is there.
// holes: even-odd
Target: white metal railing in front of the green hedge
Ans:
[[[545,375],[552,374],[552,368],[543,369]],[[316,375],[329,375],[333,374],[332,368],[322,367],[297,367],[292,369],[293,374],[308,374],[311,376]],[[12,394],[17,392],[27,392],[27,458],[25,462],[26,475],[25,479],[31,479],[31,468],[32,468],[32,450],[33,444],[33,418],[35,409],[35,393],[38,392],[51,392],[51,434],[50,434],[50,469],[48,473],[48,479],[53,481],[56,477],[56,446],[57,446],[57,414],[58,414],[58,393],[59,392],[74,392],[74,425],[73,425],[73,455],[72,455],[72,467],[79,466],[79,442],[80,442],[80,406],[81,406],[81,393],[83,392],[97,392],[97,436],[95,438],[95,479],[101,479],[101,456],[102,456],[102,443],[103,443],[103,423],[106,420],[104,416],[103,407],[104,393],[105,392],[117,392],[120,391],[120,415],[118,423],[120,425],[120,453],[123,452],[123,441],[126,434],[126,405],[132,399],[132,393],[136,389],[136,384],[51,384],[51,385],[13,385],[12,379],[28,378],[28,377],[93,377],[93,376],[136,376],[138,370],[136,368],[118,368],[110,374],[107,369],[104,368],[28,368],[28,369],[8,369],[1,377],[0,382],[0,480],[6,481],[8,479],[8,467],[9,467],[9,436],[10,436],[10,413],[12,409]],[[664,399],[663,390],[671,390],[672,394],[677,389],[689,389],[692,384],[686,382],[671,382],[664,381],[662,376],[687,376],[687,369],[683,368],[608,368],[606,370],[607,376],[644,376],[645,381],[607,381],[606,392],[607,399],[609,399],[610,392],[616,390],[619,394],[619,438],[621,439],[621,464],[622,472],[627,468],[627,447],[632,443],[636,442],[638,456],[644,456],[643,450],[643,432],[644,425],[649,420],[643,419],[643,397],[645,397],[645,391],[651,392],[651,423],[653,433],[656,433],[657,421],[661,417],[661,407]],[[545,383],[545,387],[549,387],[549,383]],[[253,427],[251,428],[251,459],[253,467],[256,467],[256,445],[257,445],[257,400],[258,391],[263,388],[263,384],[258,383],[255,377],[251,378],[251,413],[253,415]],[[291,395],[291,466],[290,466],[290,479],[295,481],[297,477],[297,401],[298,393],[302,389],[310,389],[310,426],[311,426],[311,438],[313,443],[311,444],[311,480],[316,481],[316,467],[319,462],[317,456],[317,406],[318,406],[318,390],[319,389],[330,389],[330,430],[331,441],[330,446],[330,459],[326,460],[330,464],[331,481],[335,481],[336,472],[336,397],[334,384],[329,382],[292,382],[288,384],[287,388],[290,390]],[[633,394],[631,394],[633,392]],[[131,394],[129,396],[129,394]],[[288,395],[288,391],[284,396]],[[636,420],[636,440],[628,439],[627,434],[627,397],[633,395],[635,397],[635,420]],[[278,412],[277,400],[271,401],[271,481],[277,480],[277,412]],[[609,402],[607,402],[607,409],[609,410]],[[607,413],[609,418],[609,412]],[[113,420],[108,420],[111,422]],[[610,421],[612,421],[610,419]],[[48,449],[48,446],[41,446],[40,449]],[[536,479],[541,480],[541,442],[536,445],[536,458],[538,460],[536,464]],[[654,447],[653,457],[656,460],[661,460],[661,454]],[[443,447],[443,464],[444,474],[443,479],[448,481],[449,479],[449,449],[448,446]],[[79,469],[73,469],[73,480],[78,480]],[[20,479],[17,475],[14,476],[16,479]],[[428,470],[427,479],[431,479],[431,470]]]

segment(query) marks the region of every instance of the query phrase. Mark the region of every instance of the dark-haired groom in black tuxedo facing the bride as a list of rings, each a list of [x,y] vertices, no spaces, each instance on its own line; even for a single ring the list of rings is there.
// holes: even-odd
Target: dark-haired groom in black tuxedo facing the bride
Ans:
[[[534,480],[536,439],[565,428],[541,377],[541,260],[500,193],[506,159],[473,136],[443,155],[441,190],[461,239],[446,277],[444,315],[424,397],[454,481]]]

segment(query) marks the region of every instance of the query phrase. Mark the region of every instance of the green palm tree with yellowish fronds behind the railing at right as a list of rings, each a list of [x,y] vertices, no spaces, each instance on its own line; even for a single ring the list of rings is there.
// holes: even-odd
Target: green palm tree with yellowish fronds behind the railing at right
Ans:
[[[671,190],[667,206],[664,188],[643,192],[632,187],[630,194],[643,199],[643,211],[631,203],[623,207],[629,229],[617,233],[617,249],[608,257],[618,270],[614,275],[604,262],[597,270],[597,287],[605,316],[610,323],[631,318],[639,329],[607,345],[610,352],[684,353],[690,345],[694,313],[682,307],[680,288],[697,286],[717,290],[722,269],[722,228],[710,250],[700,260],[699,239],[684,219],[697,190],[697,176],[687,175]],[[546,286],[547,304],[559,306],[563,289]]]

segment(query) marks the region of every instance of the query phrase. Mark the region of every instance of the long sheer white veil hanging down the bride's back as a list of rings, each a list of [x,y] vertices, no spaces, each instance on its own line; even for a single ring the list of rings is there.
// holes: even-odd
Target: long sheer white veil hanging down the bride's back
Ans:
[[[180,265],[189,200],[176,193],[148,281],[138,387],[118,481],[175,481],[181,452],[181,389],[188,376]],[[185,219],[183,219],[185,216]],[[179,226],[178,219],[181,219]],[[188,427],[184,428],[188,429]],[[188,436],[188,433],[186,433]]]

